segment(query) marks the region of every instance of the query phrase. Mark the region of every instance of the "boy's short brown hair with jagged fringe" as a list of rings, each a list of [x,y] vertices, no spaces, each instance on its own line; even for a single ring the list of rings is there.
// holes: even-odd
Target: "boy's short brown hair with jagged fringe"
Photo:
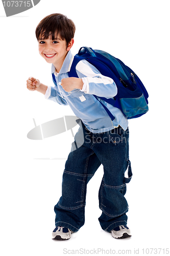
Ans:
[[[49,35],[52,35],[52,40],[57,38],[59,34],[62,40],[66,40],[66,45],[74,38],[76,26],[71,19],[67,18],[67,16],[54,13],[44,17],[41,22],[38,24],[35,34],[37,40],[39,39],[47,39]]]

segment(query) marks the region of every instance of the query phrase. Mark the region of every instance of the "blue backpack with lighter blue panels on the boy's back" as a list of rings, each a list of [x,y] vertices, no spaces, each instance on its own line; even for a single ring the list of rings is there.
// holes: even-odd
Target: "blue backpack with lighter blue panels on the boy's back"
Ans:
[[[117,94],[114,98],[104,98],[93,95],[103,105],[111,120],[114,116],[103,104],[103,100],[120,109],[128,118],[136,118],[148,112],[148,92],[138,76],[121,60],[101,50],[92,50],[88,47],[80,48],[74,57],[69,77],[78,77],[76,73],[77,63],[86,59],[104,76],[112,78],[117,86]]]

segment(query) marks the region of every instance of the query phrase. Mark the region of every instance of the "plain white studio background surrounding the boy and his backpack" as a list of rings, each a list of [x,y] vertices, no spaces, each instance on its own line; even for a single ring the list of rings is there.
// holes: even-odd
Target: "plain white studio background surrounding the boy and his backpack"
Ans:
[[[80,248],[129,249],[131,254],[139,249],[142,255],[142,248],[162,248],[163,254],[163,248],[169,247],[168,4],[165,0],[41,0],[26,12],[6,17],[0,3],[1,255],[61,255]],[[149,112],[129,121],[133,178],[126,198],[130,239],[116,240],[100,227],[102,167],[88,184],[85,225],[69,241],[51,239],[53,209],[61,196],[62,173],[73,138],[67,131],[33,141],[27,133],[34,127],[33,118],[38,125],[73,113],[68,106],[26,88],[29,76],[53,86],[51,65],[39,55],[35,37],[36,26],[51,13],[65,14],[76,24],[74,54],[82,46],[111,53],[136,72],[149,92]]]

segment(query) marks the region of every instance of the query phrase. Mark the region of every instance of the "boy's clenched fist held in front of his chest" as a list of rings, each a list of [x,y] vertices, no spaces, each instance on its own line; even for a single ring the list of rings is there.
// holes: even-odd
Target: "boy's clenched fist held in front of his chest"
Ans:
[[[68,77],[61,79],[61,86],[66,92],[71,92],[74,89],[82,89],[83,81],[81,78]]]

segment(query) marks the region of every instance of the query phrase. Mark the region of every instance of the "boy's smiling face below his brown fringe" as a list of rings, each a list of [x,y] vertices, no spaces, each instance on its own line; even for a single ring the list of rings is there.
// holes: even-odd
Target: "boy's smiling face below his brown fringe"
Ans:
[[[48,63],[53,63],[57,72],[59,73],[63,61],[74,44],[74,39],[66,46],[66,40],[62,40],[58,35],[55,40],[52,40],[52,35],[50,35],[47,39],[39,39],[38,40],[38,49],[39,54],[46,60]]]

